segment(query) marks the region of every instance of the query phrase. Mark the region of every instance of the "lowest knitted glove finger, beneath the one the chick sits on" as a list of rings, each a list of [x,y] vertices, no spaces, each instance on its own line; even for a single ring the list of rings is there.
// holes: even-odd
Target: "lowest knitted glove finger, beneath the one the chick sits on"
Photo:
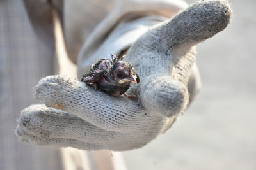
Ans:
[[[29,134],[42,138],[66,138],[100,143],[124,138],[119,132],[106,131],[65,111],[47,108],[44,104],[31,105],[22,110],[18,123]]]

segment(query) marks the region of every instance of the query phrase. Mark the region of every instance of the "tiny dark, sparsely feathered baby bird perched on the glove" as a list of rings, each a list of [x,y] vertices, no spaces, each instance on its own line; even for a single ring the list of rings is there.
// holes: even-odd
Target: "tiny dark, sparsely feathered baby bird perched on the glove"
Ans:
[[[89,73],[83,74],[82,80],[95,90],[101,90],[111,96],[124,96],[135,99],[135,95],[127,95],[131,83],[139,83],[140,78],[135,73],[131,63],[125,62],[123,57],[111,54],[111,59],[97,60],[90,67]]]

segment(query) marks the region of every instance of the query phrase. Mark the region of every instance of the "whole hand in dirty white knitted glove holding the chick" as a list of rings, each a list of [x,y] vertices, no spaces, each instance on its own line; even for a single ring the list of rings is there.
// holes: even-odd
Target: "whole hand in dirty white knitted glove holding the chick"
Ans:
[[[228,3],[196,3],[140,36],[125,58],[140,75],[140,83],[127,92],[136,94],[136,101],[61,76],[43,78],[35,96],[44,104],[22,111],[17,135],[36,145],[83,150],[146,145],[166,131],[189,103],[194,46],[225,29],[231,17]]]

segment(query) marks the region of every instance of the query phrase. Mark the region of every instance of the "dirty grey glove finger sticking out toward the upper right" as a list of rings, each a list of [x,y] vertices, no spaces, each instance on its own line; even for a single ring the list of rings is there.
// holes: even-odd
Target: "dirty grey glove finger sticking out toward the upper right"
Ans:
[[[231,18],[232,11],[226,1],[202,1],[150,32],[167,52],[180,53],[223,31]]]

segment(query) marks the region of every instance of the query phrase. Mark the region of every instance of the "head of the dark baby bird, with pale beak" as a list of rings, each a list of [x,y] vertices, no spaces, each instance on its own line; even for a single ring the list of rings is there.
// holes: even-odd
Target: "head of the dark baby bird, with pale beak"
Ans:
[[[122,60],[116,61],[113,64],[110,74],[113,80],[120,85],[136,84],[140,82],[140,78],[138,74],[135,73],[131,63]]]

